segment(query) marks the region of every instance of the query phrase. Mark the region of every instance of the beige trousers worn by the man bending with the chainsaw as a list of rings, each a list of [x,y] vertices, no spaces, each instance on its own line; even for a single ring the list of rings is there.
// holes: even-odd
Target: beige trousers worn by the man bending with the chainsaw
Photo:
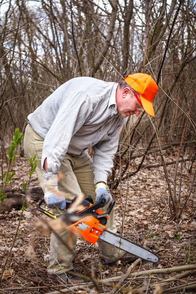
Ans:
[[[31,127],[30,124],[26,126],[24,137],[24,148],[28,158],[37,156],[36,174],[42,189],[44,190],[43,174],[41,171],[41,158],[44,139],[42,139]],[[66,194],[67,199],[73,199],[75,196],[83,193],[85,196],[92,196],[95,202],[95,184],[93,174],[93,160],[87,152],[81,156],[71,156],[66,154],[64,157],[59,172],[62,174],[62,179],[58,182],[59,191]],[[102,209],[106,212],[109,203]],[[113,233],[117,232],[114,223],[114,209],[109,216],[107,222],[107,229]],[[77,237],[73,233],[64,230],[59,233],[64,242],[69,242],[75,251]],[[119,257],[125,253],[117,249],[115,246],[104,243],[99,240],[98,245],[101,253],[106,261],[110,263],[118,260]],[[50,239],[50,255],[49,255],[49,273],[60,274],[68,270],[73,270],[73,254],[63,245],[58,237],[51,234]]]

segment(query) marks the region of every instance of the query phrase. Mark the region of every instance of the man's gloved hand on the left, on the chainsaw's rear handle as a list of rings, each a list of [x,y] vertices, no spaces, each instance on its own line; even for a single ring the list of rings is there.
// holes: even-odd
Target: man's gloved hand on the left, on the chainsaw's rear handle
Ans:
[[[44,199],[49,208],[60,210],[66,209],[66,200],[60,195],[57,186],[51,186],[51,189],[46,188]]]

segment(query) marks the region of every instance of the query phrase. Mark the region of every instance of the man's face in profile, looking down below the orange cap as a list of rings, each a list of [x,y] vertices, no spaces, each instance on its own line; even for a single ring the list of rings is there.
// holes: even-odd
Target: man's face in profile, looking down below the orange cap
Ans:
[[[130,115],[137,116],[144,110],[130,88],[122,90],[120,98],[116,99],[118,114],[126,118]],[[139,94],[138,98],[140,97]]]

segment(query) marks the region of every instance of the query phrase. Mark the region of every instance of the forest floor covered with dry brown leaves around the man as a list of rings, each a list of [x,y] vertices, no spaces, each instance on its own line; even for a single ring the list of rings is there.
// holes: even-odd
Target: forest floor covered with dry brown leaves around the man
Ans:
[[[130,169],[136,164],[135,160]],[[27,159],[17,157],[14,170],[15,176],[8,188],[23,189],[23,183],[28,179],[29,165]],[[192,174],[189,174],[188,170],[187,163],[187,165],[184,165],[182,173],[181,203],[184,203],[189,195],[191,189],[189,179],[196,172],[196,166],[193,167]],[[174,167],[168,167],[168,171],[172,177]],[[33,175],[32,179],[30,188],[38,187],[36,175]],[[121,183],[118,189],[113,192],[113,197],[116,199],[115,211],[118,234],[122,232],[123,223],[124,238],[140,245],[145,244],[160,257],[158,264],[142,261],[135,266],[132,269],[135,278],[124,281],[124,288],[121,288],[121,292],[136,293],[137,291],[134,289],[143,287],[143,289],[140,288],[138,293],[153,293],[152,283],[162,282],[179,274],[177,270],[172,274],[158,274],[156,273],[157,270],[196,265],[196,190],[193,191],[178,222],[171,218],[168,206],[168,189],[162,167],[141,170],[129,180]],[[36,210],[36,205],[35,201],[30,200],[28,208],[23,213],[19,232],[2,276],[0,293],[44,294],[52,293],[55,290],[63,291],[58,293],[65,293],[66,291],[70,293],[95,293],[92,291],[94,288],[91,286],[92,284],[85,285],[83,290],[77,290],[62,284],[56,286],[48,279],[50,238],[49,235],[39,231],[36,224],[42,219],[47,221],[49,219]],[[21,212],[22,210],[12,209],[0,214],[0,272],[12,246]],[[114,283],[118,282],[118,278],[116,282],[112,282],[112,278],[122,277],[127,270],[130,270],[129,265],[120,264],[118,267],[106,265],[98,246],[90,245],[79,238],[76,255],[99,282],[102,280],[101,283],[98,283],[100,293],[109,293],[114,288]],[[76,272],[85,275],[85,270],[75,259],[73,265]],[[147,274],[147,270],[155,270],[155,272],[150,275]],[[138,271],[146,271],[146,274],[136,277]],[[156,293],[162,293],[161,291],[172,293],[166,291],[177,285],[188,285],[190,283],[193,285],[194,282],[196,290],[195,274],[196,270],[192,270],[191,274],[187,274],[183,278],[176,276],[173,278],[175,281],[171,281],[170,284],[166,283],[167,285],[163,287],[163,290],[159,289]],[[195,293],[195,290],[186,291]],[[182,292],[183,290],[178,290],[176,293]]]

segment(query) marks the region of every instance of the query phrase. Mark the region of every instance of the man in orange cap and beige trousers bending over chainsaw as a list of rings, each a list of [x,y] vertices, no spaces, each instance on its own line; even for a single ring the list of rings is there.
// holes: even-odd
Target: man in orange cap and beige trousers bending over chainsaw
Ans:
[[[118,84],[91,77],[76,77],[61,85],[32,114],[25,129],[24,146],[29,159],[36,154],[36,174],[50,208],[66,209],[66,199],[82,193],[106,198],[111,195],[107,177],[113,167],[119,132],[126,118],[145,110],[154,117],[152,101],[158,87],[150,75],[135,73]],[[93,160],[87,149],[94,150]],[[61,173],[61,180],[58,180]],[[51,189],[48,189],[52,185]],[[116,233],[114,211],[107,229]],[[68,232],[60,233],[67,240]],[[75,250],[77,237],[73,235]],[[122,258],[124,251],[98,241],[106,263]],[[53,280],[78,283],[73,270],[73,254],[52,234],[48,273]]]

